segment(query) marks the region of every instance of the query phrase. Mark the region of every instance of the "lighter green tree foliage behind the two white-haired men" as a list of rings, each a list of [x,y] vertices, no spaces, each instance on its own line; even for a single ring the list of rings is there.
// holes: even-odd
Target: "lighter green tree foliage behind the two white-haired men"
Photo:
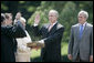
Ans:
[[[59,22],[64,25],[63,42],[69,42],[71,27],[77,23],[77,13],[81,10],[88,12],[87,22],[93,24],[93,1],[42,1],[36,11],[29,18],[28,24],[32,25],[35,14],[41,15],[40,27],[48,23],[48,13],[51,9],[58,10],[60,13]]]

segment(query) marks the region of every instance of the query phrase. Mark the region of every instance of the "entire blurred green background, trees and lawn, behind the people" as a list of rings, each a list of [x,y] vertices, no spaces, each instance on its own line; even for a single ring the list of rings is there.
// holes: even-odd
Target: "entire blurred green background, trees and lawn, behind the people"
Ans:
[[[48,13],[51,9],[59,11],[59,22],[64,25],[65,31],[62,39],[61,50],[63,61],[67,60],[67,43],[70,40],[71,27],[77,23],[77,13],[81,10],[88,12],[87,22],[93,24],[93,1],[1,1],[1,12],[11,12],[14,15],[18,11],[27,19],[27,30],[33,41],[41,38],[34,36],[31,27],[36,13],[41,15],[40,28],[49,22]],[[40,51],[31,51],[31,61],[40,61]],[[40,61],[41,62],[41,61]]]

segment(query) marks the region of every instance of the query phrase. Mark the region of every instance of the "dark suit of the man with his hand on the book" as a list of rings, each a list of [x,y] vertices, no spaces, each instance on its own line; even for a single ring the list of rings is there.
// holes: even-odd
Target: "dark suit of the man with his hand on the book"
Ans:
[[[42,35],[45,46],[41,51],[42,61],[45,62],[59,62],[61,61],[61,41],[64,31],[64,27],[60,23],[53,25],[49,31],[50,24],[44,24],[41,30],[39,27],[34,27],[35,35]]]

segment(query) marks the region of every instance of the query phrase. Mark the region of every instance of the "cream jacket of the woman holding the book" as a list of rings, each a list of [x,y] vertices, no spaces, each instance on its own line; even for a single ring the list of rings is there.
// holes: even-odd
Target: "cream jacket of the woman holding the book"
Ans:
[[[30,48],[27,46],[27,43],[32,42],[32,40],[27,31],[25,31],[25,34],[27,34],[27,36],[17,39],[18,51],[21,51],[21,52],[30,51]]]

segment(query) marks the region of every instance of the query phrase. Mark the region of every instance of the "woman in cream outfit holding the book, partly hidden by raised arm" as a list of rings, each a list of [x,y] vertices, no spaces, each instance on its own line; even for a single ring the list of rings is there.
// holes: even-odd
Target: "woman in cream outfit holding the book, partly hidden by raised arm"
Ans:
[[[23,28],[25,29],[25,19],[23,17],[21,17],[21,13],[18,12],[15,15],[15,20],[17,21],[21,21],[21,23],[23,24]],[[25,34],[27,36],[24,38],[17,38],[17,42],[18,42],[18,49],[17,49],[17,53],[15,53],[15,62],[30,62],[30,48],[27,46],[27,43],[32,42],[28,31],[25,30]]]

